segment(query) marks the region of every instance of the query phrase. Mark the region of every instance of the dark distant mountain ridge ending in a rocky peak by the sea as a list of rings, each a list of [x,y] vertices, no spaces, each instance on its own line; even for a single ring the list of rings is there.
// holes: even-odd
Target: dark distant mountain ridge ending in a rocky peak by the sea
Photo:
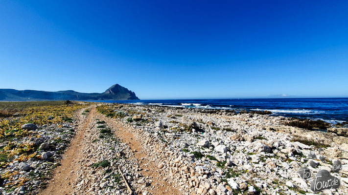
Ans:
[[[35,90],[0,89],[0,101],[41,100],[127,100],[139,99],[134,92],[115,84],[104,93],[79,93],[72,90],[47,92]]]

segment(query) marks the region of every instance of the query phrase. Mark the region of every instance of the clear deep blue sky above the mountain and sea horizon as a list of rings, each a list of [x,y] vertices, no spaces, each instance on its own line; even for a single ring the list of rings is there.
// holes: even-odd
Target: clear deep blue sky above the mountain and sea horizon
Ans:
[[[348,1],[0,1],[0,88],[348,97]]]

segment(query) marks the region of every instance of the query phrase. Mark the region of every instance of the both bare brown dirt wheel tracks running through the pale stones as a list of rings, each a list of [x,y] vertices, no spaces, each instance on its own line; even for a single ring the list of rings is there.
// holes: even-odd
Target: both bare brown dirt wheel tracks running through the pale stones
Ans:
[[[84,110],[84,109],[83,109]],[[151,187],[147,188],[152,195],[181,195],[181,193],[170,185],[159,174],[157,164],[149,160],[146,151],[140,144],[140,141],[125,127],[125,125],[117,119],[105,117],[96,112],[95,105],[90,107],[90,112],[86,117],[81,117],[83,110],[76,113],[77,129],[76,137],[72,139],[69,148],[65,152],[61,160],[61,166],[54,170],[54,176],[49,181],[46,189],[42,190],[39,195],[70,195],[76,189],[73,189],[73,183],[78,179],[77,174],[82,167],[78,162],[86,160],[82,149],[86,148],[88,142],[84,141],[87,128],[93,123],[93,117],[100,118],[107,122],[109,127],[112,127],[116,137],[123,143],[130,146],[133,151],[133,156],[139,162],[141,167],[141,175],[151,178]],[[126,171],[126,170],[124,170]],[[79,192],[80,194],[88,194],[87,192]]]

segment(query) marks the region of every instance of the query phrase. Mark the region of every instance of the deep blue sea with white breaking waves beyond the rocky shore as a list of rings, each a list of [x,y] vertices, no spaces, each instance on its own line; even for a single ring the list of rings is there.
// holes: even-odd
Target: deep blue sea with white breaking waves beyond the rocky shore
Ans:
[[[348,121],[348,98],[165,99],[101,101],[171,107],[271,111],[273,115]]]

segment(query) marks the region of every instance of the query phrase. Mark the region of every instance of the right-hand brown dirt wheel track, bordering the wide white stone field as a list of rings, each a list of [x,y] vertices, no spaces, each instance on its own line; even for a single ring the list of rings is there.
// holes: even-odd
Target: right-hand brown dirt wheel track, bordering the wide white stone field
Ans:
[[[157,164],[148,160],[149,156],[147,156],[146,151],[140,144],[140,141],[129,131],[128,128],[125,128],[123,122],[118,121],[117,119],[112,119],[108,117],[104,117],[99,114],[99,118],[102,118],[107,124],[115,130],[116,136],[123,142],[127,143],[133,153],[134,157],[138,159],[139,166],[142,168],[140,173],[143,176],[149,176],[152,179],[151,186],[153,187],[148,191],[153,195],[181,195],[182,193],[167,181],[163,180],[163,178],[159,175],[159,168]]]

